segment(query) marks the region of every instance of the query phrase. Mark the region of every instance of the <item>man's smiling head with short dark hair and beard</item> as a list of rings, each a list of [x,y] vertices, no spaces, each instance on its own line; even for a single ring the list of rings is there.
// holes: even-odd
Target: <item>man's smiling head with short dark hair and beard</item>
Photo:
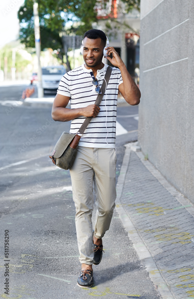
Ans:
[[[90,29],[84,33],[83,58],[88,68],[100,65],[107,37],[101,30]]]

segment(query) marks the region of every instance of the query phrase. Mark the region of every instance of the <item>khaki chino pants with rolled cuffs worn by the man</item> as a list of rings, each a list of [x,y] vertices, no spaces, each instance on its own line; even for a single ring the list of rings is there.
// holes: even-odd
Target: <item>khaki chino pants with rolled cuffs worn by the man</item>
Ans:
[[[114,148],[78,147],[70,168],[73,201],[76,207],[76,233],[79,261],[93,264],[93,182],[96,193],[94,236],[102,238],[110,227],[116,199],[116,153]]]

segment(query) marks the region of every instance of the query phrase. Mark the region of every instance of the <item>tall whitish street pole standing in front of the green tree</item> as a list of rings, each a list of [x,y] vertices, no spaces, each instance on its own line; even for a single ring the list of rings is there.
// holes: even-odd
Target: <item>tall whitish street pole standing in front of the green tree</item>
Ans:
[[[39,13],[38,13],[38,3],[33,4],[34,11],[34,33],[35,33],[35,47],[36,47],[36,56],[38,59],[38,98],[44,97],[44,92],[42,88],[42,70],[40,65],[40,27],[39,27]]]

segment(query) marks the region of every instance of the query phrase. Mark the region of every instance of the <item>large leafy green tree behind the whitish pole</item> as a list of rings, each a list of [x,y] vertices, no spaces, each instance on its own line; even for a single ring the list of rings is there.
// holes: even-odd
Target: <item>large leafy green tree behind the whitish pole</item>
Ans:
[[[139,9],[140,0],[122,0],[125,10]],[[70,63],[67,51],[64,52],[62,34],[83,35],[98,22],[95,5],[97,0],[37,0],[39,4],[41,50],[52,48],[58,51],[58,58],[66,56],[67,69]],[[104,5],[109,0],[104,0]],[[26,47],[35,47],[33,0],[25,0],[18,11],[20,22],[20,40]],[[68,29],[64,29],[68,27]]]

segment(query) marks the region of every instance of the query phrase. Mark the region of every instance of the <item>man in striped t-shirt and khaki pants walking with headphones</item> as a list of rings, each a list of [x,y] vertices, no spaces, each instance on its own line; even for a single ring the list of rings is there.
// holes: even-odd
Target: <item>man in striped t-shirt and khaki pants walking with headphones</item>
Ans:
[[[96,106],[96,78],[101,87],[108,65],[102,63],[106,35],[91,29],[84,34],[85,64],[64,74],[52,109],[57,121],[71,120],[70,133],[77,133],[86,117],[93,117],[80,139],[76,158],[70,168],[73,201],[76,206],[76,233],[81,262],[78,286],[93,283],[92,264],[102,258],[102,237],[109,229],[116,199],[116,107],[118,90],[130,105],[138,105],[141,93],[113,47],[106,47],[107,60],[115,67],[101,103]],[[110,58],[112,54],[112,58]],[[70,100],[71,109],[66,106]],[[96,192],[96,223],[92,230],[93,183]]]

